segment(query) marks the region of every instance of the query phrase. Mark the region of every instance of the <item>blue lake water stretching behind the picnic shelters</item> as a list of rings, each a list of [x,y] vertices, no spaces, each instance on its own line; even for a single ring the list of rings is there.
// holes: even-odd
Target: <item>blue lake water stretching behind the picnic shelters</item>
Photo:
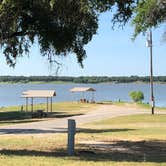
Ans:
[[[71,93],[69,90],[73,87],[90,86],[96,89],[94,93],[95,101],[131,101],[129,92],[142,91],[144,93],[144,102],[149,102],[150,86],[149,84],[1,84],[0,85],[0,106],[24,105],[25,99],[21,94],[26,90],[55,90],[57,96],[53,97],[53,102],[59,101],[77,101],[83,97],[91,99],[92,93],[87,92]],[[154,85],[155,104],[157,106],[166,106],[166,84]],[[34,103],[43,103],[46,99],[34,99]]]

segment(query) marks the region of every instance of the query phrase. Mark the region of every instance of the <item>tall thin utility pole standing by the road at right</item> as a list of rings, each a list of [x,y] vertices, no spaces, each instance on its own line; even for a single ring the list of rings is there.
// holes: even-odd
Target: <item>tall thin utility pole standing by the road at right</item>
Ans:
[[[154,114],[155,100],[153,93],[153,56],[152,56],[152,31],[149,31],[149,42],[150,42],[150,95],[151,95],[151,112]]]

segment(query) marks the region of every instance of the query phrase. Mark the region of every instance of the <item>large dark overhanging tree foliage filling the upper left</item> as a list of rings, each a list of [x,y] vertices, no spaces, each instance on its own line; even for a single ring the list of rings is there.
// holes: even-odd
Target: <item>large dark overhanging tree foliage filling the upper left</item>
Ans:
[[[84,46],[96,34],[99,14],[115,6],[113,24],[126,23],[134,0],[0,0],[0,46],[7,63],[29,53],[38,42],[50,62],[54,55],[86,57]]]

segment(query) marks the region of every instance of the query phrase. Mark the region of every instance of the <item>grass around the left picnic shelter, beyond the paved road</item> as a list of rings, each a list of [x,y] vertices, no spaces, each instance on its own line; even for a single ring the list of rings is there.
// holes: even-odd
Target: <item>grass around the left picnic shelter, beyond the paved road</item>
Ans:
[[[0,108],[0,125],[26,123],[47,120],[48,118],[64,118],[74,115],[82,115],[88,111],[93,110],[97,105],[90,103],[78,102],[60,102],[53,103],[53,112],[48,113],[46,118],[32,118],[33,113],[21,111],[20,106],[1,107]],[[30,109],[30,105],[28,106]],[[34,112],[36,110],[46,110],[46,104],[34,105]],[[24,106],[25,110],[25,106]]]

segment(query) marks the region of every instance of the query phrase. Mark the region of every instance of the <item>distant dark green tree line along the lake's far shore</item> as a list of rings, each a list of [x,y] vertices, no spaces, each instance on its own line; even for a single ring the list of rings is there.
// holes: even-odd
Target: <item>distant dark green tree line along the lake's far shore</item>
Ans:
[[[72,83],[132,83],[132,82],[149,82],[149,77],[144,76],[81,76],[81,77],[68,77],[68,76],[0,76],[0,82],[11,83],[28,83],[28,82],[72,82]],[[154,82],[166,83],[166,76],[155,76]]]

